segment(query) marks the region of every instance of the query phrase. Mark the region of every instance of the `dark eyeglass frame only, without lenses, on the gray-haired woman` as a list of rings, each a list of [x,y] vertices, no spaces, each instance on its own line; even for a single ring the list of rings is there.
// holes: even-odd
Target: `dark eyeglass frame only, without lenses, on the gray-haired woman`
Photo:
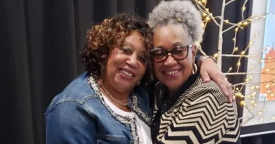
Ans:
[[[187,56],[188,56],[189,48],[192,48],[194,45],[183,45],[183,46],[181,46],[181,47],[186,47],[186,46],[187,46],[187,54],[186,54],[185,58],[187,58]],[[176,46],[176,48],[177,48],[177,47],[178,47],[178,46]],[[154,56],[152,56],[153,60],[154,60],[155,62],[157,62],[157,63],[163,63],[165,60],[167,60],[167,58],[168,58],[168,53],[171,53],[172,57],[173,57],[175,60],[184,60],[185,58],[176,58],[176,57],[173,55],[173,51],[174,51],[176,48],[173,48],[173,49],[170,50],[170,51],[166,51],[166,50],[163,49],[163,48],[153,48],[150,52],[152,53],[152,52],[154,52],[154,51],[159,51],[159,50],[165,51],[165,52],[166,52],[166,55],[165,55],[164,60],[155,60],[155,59],[154,59]]]

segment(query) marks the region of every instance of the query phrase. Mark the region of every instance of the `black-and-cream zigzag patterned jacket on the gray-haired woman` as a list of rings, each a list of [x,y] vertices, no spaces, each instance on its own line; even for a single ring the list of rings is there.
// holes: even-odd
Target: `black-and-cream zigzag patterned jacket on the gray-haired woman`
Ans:
[[[175,96],[157,83],[152,124],[153,143],[238,143],[240,122],[236,103],[211,81],[192,75]]]

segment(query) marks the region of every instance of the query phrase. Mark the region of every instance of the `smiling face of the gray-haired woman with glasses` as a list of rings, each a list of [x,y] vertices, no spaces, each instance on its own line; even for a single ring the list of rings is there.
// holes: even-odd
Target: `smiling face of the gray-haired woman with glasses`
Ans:
[[[154,29],[154,48],[171,51],[190,44],[193,44],[192,38],[181,25],[163,25]],[[196,47],[191,46],[186,53],[187,56],[183,60],[175,60],[171,53],[168,53],[168,58],[164,62],[154,62],[157,79],[166,85],[170,92],[178,91],[192,74]]]

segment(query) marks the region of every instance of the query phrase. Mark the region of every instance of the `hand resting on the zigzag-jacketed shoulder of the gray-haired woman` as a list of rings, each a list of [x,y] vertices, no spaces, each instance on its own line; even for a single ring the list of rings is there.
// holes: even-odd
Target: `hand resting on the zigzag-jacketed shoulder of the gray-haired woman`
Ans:
[[[201,56],[202,57],[202,56]],[[209,82],[210,79],[216,82],[216,84],[221,87],[221,90],[224,92],[226,96],[228,96],[228,102],[232,103],[235,101],[233,97],[233,89],[232,84],[227,80],[224,76],[224,73],[221,72],[218,65],[212,60],[212,58],[205,58],[204,60],[200,60],[200,76],[204,80],[205,83]]]

